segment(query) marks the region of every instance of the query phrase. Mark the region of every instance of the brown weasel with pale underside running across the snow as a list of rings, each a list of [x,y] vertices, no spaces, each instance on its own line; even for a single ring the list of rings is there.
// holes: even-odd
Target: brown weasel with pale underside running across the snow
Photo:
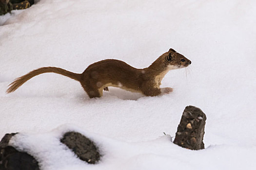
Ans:
[[[164,75],[177,68],[185,68],[191,61],[183,55],[170,49],[163,53],[148,68],[137,69],[120,60],[106,59],[91,64],[83,73],[73,73],[62,68],[44,67],[30,71],[17,78],[7,89],[7,93],[14,92],[26,81],[42,73],[54,72],[77,80],[90,98],[101,97],[102,91],[108,86],[120,87],[125,90],[140,92],[146,96],[158,96],[170,93],[173,88],[160,88]]]

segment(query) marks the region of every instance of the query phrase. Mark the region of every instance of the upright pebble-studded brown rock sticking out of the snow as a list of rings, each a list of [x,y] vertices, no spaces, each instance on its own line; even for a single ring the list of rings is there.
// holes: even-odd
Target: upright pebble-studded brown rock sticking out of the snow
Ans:
[[[187,106],[177,128],[174,143],[187,149],[204,149],[203,136],[206,116],[201,109]]]

